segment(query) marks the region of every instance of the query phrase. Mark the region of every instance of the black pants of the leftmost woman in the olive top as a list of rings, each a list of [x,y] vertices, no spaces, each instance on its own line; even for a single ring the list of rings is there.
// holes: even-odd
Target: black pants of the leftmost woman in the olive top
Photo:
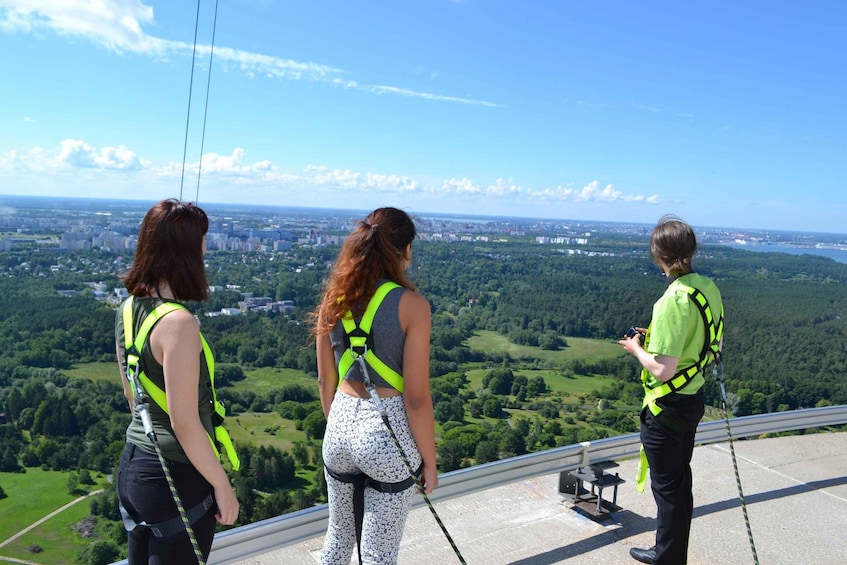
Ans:
[[[212,486],[187,463],[168,461],[168,469],[186,510],[213,492]],[[127,443],[118,465],[118,497],[136,522],[164,522],[179,515],[171,496],[162,465],[155,454]],[[204,561],[212,549],[215,535],[214,506],[192,525]],[[182,530],[171,538],[156,538],[149,528],[138,526],[127,533],[130,565],[190,565],[197,557],[188,534]]]

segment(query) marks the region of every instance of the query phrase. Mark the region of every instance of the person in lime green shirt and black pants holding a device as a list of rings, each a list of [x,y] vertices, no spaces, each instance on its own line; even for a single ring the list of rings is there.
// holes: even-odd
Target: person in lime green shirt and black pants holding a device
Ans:
[[[691,455],[705,410],[703,370],[719,355],[723,333],[721,294],[711,279],[694,272],[696,251],[691,226],[675,216],[659,220],[650,235],[650,253],[668,287],[653,305],[649,327],[634,328],[618,342],[641,364],[645,391],[641,444],[657,517],[655,546],[630,549],[642,563],[681,565],[688,559],[694,511]],[[646,481],[644,459],[639,490]]]

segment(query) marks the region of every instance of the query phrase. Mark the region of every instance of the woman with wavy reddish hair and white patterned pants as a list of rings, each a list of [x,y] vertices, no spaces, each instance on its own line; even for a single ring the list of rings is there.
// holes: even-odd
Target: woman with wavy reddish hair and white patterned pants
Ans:
[[[327,418],[324,565],[350,563],[357,541],[360,562],[396,563],[415,493],[409,467],[420,471],[424,492],[438,485],[430,307],[405,274],[415,235],[411,218],[396,208],[358,222],[313,314]]]

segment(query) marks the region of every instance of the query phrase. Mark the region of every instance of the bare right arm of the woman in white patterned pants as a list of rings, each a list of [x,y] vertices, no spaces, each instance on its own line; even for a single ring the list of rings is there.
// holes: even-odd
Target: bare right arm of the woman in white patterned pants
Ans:
[[[403,402],[412,436],[423,459],[424,492],[438,486],[435,461],[435,415],[429,388],[429,342],[432,315],[429,303],[416,292],[400,299],[400,325],[406,333],[403,348]]]

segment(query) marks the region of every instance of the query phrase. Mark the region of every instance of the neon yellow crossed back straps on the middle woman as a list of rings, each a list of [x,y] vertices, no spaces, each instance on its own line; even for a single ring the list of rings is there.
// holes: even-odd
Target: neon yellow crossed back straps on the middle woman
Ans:
[[[382,283],[368,302],[365,313],[362,315],[362,319],[359,320],[358,325],[353,319],[353,313],[349,310],[341,318],[341,324],[344,327],[345,345],[347,347],[338,361],[339,384],[347,376],[356,358],[361,356],[364,357],[365,362],[380,377],[385,379],[385,382],[397,391],[403,392],[403,375],[386,365],[376,356],[376,353],[373,351],[373,336],[371,335],[371,326],[373,326],[376,311],[379,309],[386,295],[395,288],[400,288],[400,285],[391,281]]]

